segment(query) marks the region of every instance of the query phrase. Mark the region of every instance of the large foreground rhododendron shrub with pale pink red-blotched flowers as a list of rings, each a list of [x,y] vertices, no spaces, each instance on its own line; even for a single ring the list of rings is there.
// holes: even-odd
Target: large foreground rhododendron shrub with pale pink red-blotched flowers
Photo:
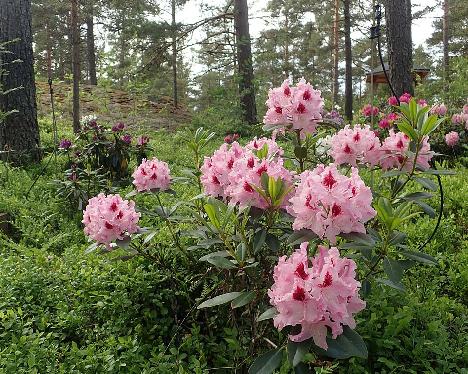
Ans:
[[[139,202],[145,193],[146,209],[138,211],[166,224],[169,249],[197,272],[194,279],[207,281],[198,309],[243,308],[232,320],[252,342],[251,352],[275,347],[250,373],[273,372],[281,360],[266,358],[281,358],[284,350],[299,368],[310,350],[318,357],[366,357],[356,316],[371,287],[403,291],[409,266],[435,263],[424,246],[406,243],[403,231],[417,215],[436,216],[432,178],[447,171],[431,167],[430,134],[445,118],[407,95],[386,115],[398,131],[376,134],[365,124],[330,129],[319,123],[320,93],[305,80],[272,89],[267,105],[267,128],[284,131],[242,142],[230,136],[206,154],[214,135],[199,129],[188,142],[191,169],[171,177],[163,161],[143,160],[127,196]],[[321,135],[314,133],[322,125]],[[169,187],[177,183],[190,184],[194,196],[165,206],[162,194],[176,193]],[[164,266],[156,229],[138,229],[137,220],[119,226],[137,215],[131,202],[95,199],[83,219],[87,235]]]

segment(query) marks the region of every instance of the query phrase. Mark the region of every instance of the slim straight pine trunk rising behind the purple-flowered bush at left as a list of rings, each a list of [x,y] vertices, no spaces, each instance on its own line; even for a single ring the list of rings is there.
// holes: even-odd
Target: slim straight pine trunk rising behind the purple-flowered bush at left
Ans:
[[[80,126],[80,30],[78,23],[78,0],[71,1],[72,69],[73,69],[73,131]]]

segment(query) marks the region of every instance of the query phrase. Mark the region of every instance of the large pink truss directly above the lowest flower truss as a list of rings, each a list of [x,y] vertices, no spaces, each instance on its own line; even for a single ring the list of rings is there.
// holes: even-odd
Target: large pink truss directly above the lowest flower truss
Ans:
[[[312,230],[333,244],[340,233],[365,233],[364,223],[376,214],[371,206],[372,192],[358,170],[352,168],[351,177],[347,177],[333,164],[303,172],[289,201],[294,230]]]

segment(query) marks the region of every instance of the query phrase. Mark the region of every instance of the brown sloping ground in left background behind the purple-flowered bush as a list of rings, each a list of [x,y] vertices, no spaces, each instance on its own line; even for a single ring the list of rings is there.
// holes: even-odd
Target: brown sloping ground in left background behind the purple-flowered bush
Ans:
[[[38,115],[50,116],[49,85],[46,81],[38,81],[36,87]],[[72,119],[72,84],[55,81],[53,92],[58,122],[69,123]],[[191,119],[186,107],[174,109],[169,96],[149,98],[141,93],[109,87],[82,85],[80,104],[83,116],[99,114],[101,122],[124,122],[129,127],[142,131],[162,128],[174,130],[181,124],[189,123]]]

